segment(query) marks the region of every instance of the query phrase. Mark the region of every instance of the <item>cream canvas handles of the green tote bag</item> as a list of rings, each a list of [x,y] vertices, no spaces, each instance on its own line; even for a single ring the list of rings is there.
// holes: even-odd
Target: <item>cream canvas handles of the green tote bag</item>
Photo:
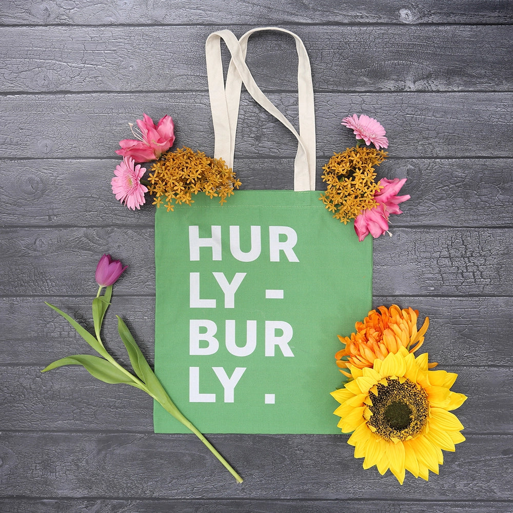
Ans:
[[[298,52],[299,133],[262,92],[246,65],[249,36],[263,30],[284,32],[294,37]],[[231,54],[226,84],[223,76],[221,40],[224,40]],[[310,60],[301,38],[293,32],[278,27],[249,30],[240,40],[237,40],[230,30],[220,30],[208,36],[205,55],[214,126],[214,157],[224,159],[228,167],[233,167],[241,87],[244,83],[253,99],[283,123],[298,140],[298,151],[294,161],[294,190],[315,190],[315,111],[312,74]]]

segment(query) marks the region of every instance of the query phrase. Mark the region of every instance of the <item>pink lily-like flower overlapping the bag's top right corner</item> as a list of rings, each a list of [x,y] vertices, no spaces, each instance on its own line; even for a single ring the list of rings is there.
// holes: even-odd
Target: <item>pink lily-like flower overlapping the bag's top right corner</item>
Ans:
[[[402,214],[399,203],[409,200],[409,194],[398,196],[397,193],[406,182],[403,178],[394,178],[388,180],[383,178],[379,185],[383,188],[374,194],[374,200],[378,202],[373,208],[363,210],[354,220],[354,231],[358,235],[358,240],[362,242],[370,233],[374,239],[383,233],[388,232],[388,218],[390,214]]]

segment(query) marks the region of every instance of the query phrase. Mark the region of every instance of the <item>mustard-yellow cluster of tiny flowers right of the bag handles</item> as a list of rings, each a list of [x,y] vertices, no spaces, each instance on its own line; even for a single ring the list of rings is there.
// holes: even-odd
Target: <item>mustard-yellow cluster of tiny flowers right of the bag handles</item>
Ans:
[[[376,178],[375,166],[386,158],[383,150],[359,146],[334,153],[323,167],[323,182],[328,184],[326,192],[319,198],[333,217],[346,224],[363,210],[375,207],[374,193],[381,186]]]

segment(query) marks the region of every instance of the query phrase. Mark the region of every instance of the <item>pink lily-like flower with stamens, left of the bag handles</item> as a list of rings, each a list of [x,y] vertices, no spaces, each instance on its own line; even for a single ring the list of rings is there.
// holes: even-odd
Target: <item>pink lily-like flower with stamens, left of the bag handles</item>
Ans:
[[[118,155],[129,156],[136,163],[149,162],[158,159],[174,143],[174,124],[171,116],[165,115],[156,125],[150,116],[143,114],[143,120],[137,120],[139,130],[136,133],[130,123],[136,139],[120,141]]]

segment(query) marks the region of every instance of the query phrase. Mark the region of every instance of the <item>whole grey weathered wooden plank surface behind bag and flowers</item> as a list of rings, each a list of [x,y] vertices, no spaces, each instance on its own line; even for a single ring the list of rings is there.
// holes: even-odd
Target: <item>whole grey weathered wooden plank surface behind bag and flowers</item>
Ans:
[[[511,511],[512,22],[503,0],[2,2],[0,511]],[[193,436],[154,435],[142,392],[78,367],[39,372],[88,351],[44,301],[91,327],[104,252],[130,266],[106,343],[128,363],[120,314],[153,361],[153,210],[113,198],[114,150],[147,112],[173,116],[177,146],[211,153],[204,40],[264,25],[297,32],[311,57],[318,188],[352,144],[340,125],[352,112],[386,125],[380,176],[408,179],[392,238],[374,241],[373,303],[428,315],[425,349],[468,396],[467,441],[428,482],[363,470],[345,435],[211,436],[236,485]],[[295,120],[293,43],[261,34],[252,49],[257,81]],[[247,94],[240,123],[243,187],[290,189],[292,137]]]

